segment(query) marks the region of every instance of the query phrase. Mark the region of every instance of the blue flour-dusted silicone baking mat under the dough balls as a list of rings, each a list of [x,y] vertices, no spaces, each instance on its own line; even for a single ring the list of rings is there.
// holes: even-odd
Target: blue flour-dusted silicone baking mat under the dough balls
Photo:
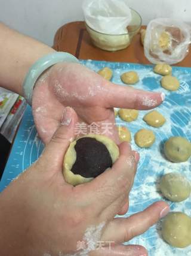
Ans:
[[[157,107],[167,119],[167,122],[161,128],[149,127],[144,121],[143,116],[148,111],[140,111],[138,119],[127,123],[121,121],[119,117],[116,122],[127,126],[132,135],[132,146],[140,152],[140,162],[135,177],[133,189],[130,194],[130,209],[125,216],[145,209],[147,206],[162,198],[158,184],[160,177],[171,171],[178,171],[186,177],[190,177],[190,160],[183,163],[172,163],[164,158],[162,146],[164,141],[172,135],[183,136],[191,140],[191,68],[173,67],[172,75],[180,80],[178,91],[169,92],[160,86],[161,76],[153,73],[151,65],[138,65],[117,62],[100,61],[81,61],[81,63],[94,71],[103,67],[109,67],[113,70],[112,82],[123,85],[120,75],[124,71],[135,70],[140,77],[140,82],[134,85],[135,88],[164,92],[166,99],[164,103]],[[134,134],[140,128],[149,128],[155,132],[156,141],[149,149],[140,149],[134,143]],[[10,158],[0,183],[2,191],[18,174],[29,167],[32,162],[41,155],[44,145],[38,138],[33,122],[32,112],[28,106],[21,121],[19,131],[17,132]],[[191,216],[191,198],[181,203],[171,203],[171,210],[183,211]],[[191,233],[191,231],[190,231]],[[191,234],[190,234],[191,235]],[[191,246],[184,249],[172,248],[161,238],[161,222],[154,225],[146,233],[135,237],[129,243],[145,246],[151,256],[189,256],[191,255]]]

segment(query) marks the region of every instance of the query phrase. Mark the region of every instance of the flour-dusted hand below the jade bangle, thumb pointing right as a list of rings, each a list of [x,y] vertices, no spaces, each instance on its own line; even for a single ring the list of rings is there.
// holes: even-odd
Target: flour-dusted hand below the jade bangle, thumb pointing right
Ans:
[[[45,143],[60,125],[66,106],[75,109],[79,122],[95,122],[97,133],[103,134],[104,124],[109,124],[104,135],[119,143],[113,107],[147,110],[157,107],[162,100],[161,93],[115,85],[80,64],[59,63],[38,79],[32,108],[36,128]]]

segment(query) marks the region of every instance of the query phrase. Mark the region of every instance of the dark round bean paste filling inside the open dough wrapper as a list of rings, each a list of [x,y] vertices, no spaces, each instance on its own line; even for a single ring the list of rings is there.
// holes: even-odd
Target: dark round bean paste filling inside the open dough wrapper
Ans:
[[[83,177],[97,177],[112,167],[112,158],[107,147],[96,138],[79,138],[75,144],[76,161],[71,171]]]

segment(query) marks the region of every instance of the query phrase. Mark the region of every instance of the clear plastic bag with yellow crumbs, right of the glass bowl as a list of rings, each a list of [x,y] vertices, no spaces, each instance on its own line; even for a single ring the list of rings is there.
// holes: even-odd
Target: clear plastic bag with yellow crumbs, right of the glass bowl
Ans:
[[[144,55],[153,64],[175,64],[185,58],[190,43],[189,25],[178,20],[155,19],[146,29]]]

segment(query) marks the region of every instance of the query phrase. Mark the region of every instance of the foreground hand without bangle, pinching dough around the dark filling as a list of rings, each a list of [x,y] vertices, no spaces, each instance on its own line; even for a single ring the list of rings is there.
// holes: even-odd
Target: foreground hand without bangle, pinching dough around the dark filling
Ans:
[[[158,202],[129,218],[113,219],[128,209],[138,155],[130,144],[119,146],[112,168],[73,187],[64,181],[62,165],[70,139],[75,137],[76,113],[66,108],[62,124],[31,167],[0,194],[1,256],[119,256],[146,255],[137,245],[121,245],[143,233],[167,213]],[[165,210],[164,210],[165,209]],[[78,251],[79,241],[91,248]],[[103,248],[96,249],[101,241]],[[109,248],[107,241],[112,242]],[[93,246],[93,247],[92,247]]]

